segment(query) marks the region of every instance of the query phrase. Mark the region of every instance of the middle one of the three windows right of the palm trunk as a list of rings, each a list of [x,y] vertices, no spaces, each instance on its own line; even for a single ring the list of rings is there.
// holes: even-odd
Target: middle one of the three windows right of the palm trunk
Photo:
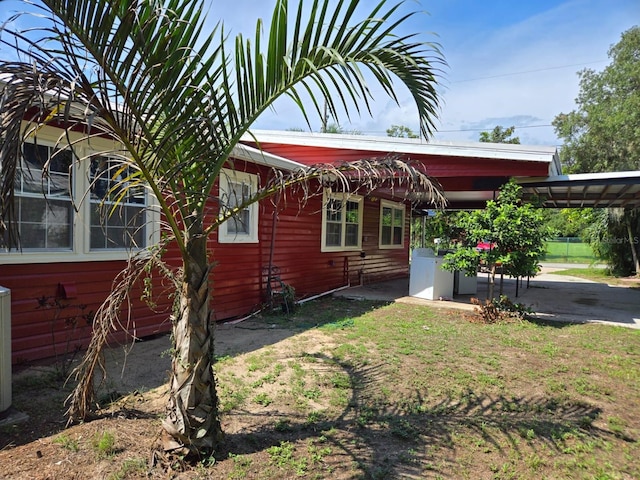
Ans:
[[[325,194],[322,209],[322,251],[362,247],[362,197]]]

